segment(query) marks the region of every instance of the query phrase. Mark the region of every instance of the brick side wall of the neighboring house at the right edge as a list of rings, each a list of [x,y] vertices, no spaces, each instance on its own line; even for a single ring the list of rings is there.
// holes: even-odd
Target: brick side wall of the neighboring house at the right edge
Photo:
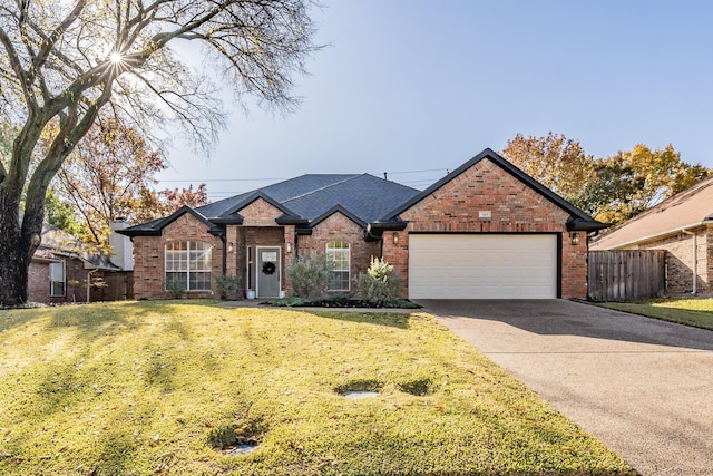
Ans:
[[[693,231],[696,237],[696,292],[713,292],[713,226]],[[693,235],[676,233],[638,245],[639,250],[666,250],[666,293],[683,294],[693,291]]]

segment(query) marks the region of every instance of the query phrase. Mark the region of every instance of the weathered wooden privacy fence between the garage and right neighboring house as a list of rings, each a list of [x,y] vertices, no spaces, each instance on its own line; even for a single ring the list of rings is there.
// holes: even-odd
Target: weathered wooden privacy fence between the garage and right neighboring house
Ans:
[[[628,301],[663,297],[664,250],[590,251],[588,293],[593,301]]]

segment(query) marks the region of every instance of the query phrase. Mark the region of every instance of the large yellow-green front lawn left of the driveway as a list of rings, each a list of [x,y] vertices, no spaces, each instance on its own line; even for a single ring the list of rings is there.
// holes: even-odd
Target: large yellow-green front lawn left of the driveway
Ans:
[[[7,475],[631,472],[423,313],[124,302],[1,311],[0,337]]]

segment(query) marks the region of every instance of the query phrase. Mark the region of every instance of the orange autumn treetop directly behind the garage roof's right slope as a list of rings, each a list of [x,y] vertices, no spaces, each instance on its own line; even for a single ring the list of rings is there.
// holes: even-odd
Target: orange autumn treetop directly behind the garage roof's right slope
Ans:
[[[551,132],[543,137],[518,134],[508,140],[502,156],[553,192],[582,205],[580,194],[593,177],[594,158],[578,140]]]

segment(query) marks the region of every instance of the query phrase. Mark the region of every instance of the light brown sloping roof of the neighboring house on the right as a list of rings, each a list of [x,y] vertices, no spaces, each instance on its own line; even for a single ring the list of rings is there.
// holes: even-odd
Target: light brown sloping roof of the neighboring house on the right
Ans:
[[[713,220],[713,176],[697,182],[658,205],[602,235],[593,250],[613,250],[678,233]]]

